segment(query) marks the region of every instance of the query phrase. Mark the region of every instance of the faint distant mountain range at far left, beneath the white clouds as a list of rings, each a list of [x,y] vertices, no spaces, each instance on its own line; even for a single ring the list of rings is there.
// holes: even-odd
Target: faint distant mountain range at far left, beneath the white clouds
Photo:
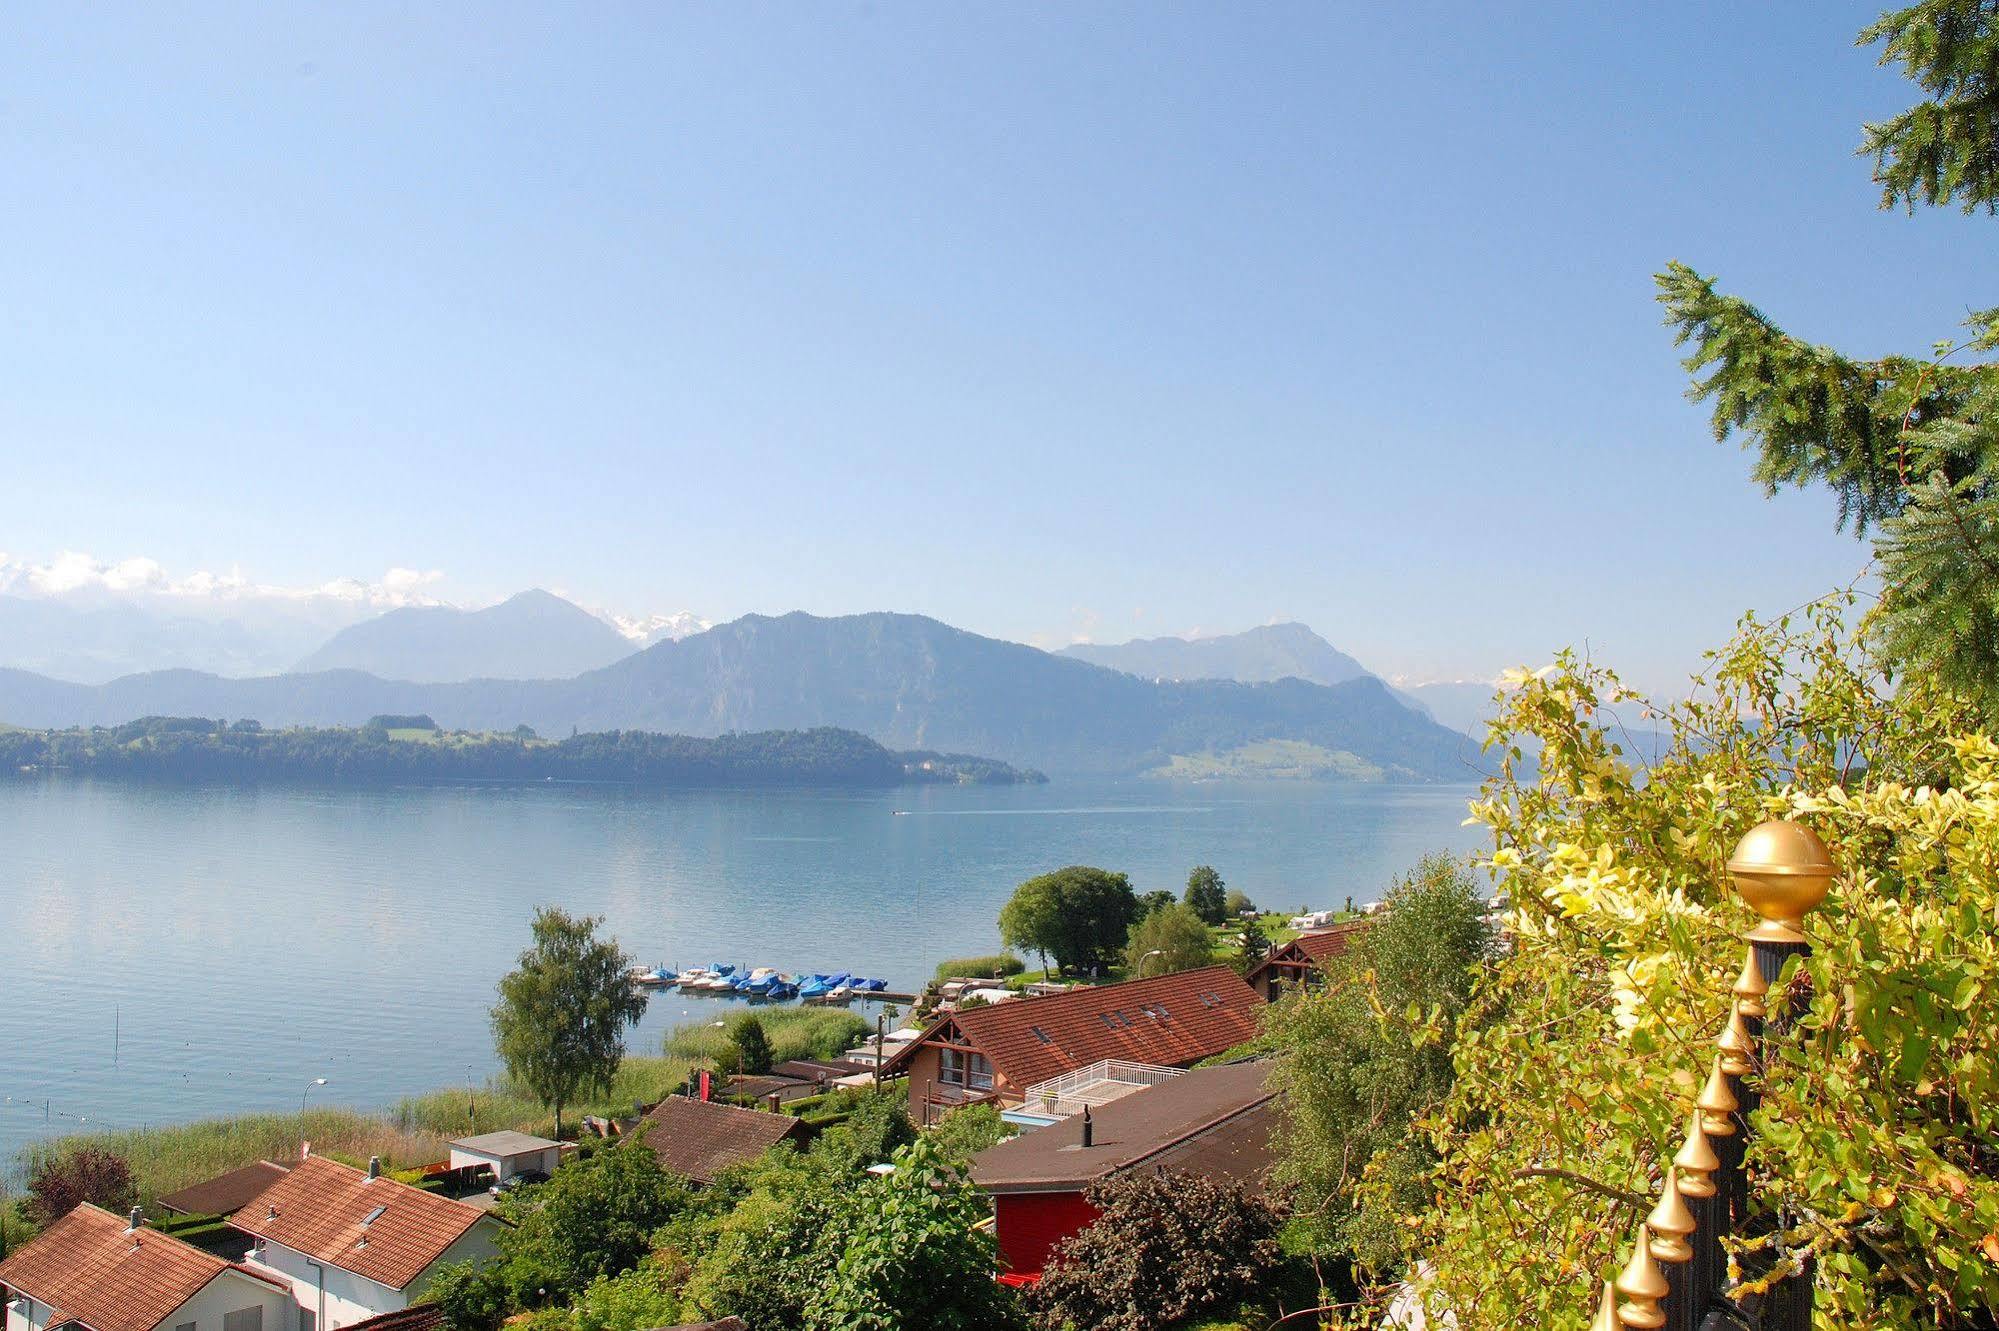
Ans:
[[[102,683],[176,667],[254,675],[284,669],[296,652],[282,636],[240,618],[152,614],[116,600],[0,596],[0,666],[56,679]]]

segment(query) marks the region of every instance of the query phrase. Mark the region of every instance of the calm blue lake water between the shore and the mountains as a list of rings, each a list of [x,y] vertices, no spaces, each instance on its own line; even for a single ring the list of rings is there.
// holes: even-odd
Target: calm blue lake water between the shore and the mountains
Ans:
[[[34,1137],[484,1079],[538,903],[642,961],[854,969],[998,949],[1065,863],[1263,905],[1377,897],[1471,849],[1461,787],[1055,781],[896,791],[184,789],[0,781],[0,1167]],[[898,817],[896,811],[906,815]],[[718,999],[654,997],[630,1047]]]

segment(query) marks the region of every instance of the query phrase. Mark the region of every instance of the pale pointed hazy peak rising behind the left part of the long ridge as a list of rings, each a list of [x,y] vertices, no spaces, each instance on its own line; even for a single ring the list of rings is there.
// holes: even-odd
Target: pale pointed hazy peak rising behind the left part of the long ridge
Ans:
[[[408,606],[340,630],[298,671],[362,669],[382,679],[568,679],[632,656],[616,628],[550,592],[486,610]]]

